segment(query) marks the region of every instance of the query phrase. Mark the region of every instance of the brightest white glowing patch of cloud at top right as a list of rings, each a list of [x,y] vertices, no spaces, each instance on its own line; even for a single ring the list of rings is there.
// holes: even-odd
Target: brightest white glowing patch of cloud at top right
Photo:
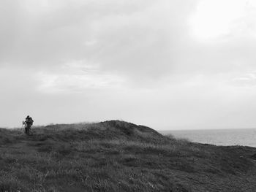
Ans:
[[[237,20],[244,17],[245,10],[246,2],[242,0],[200,1],[191,18],[193,34],[204,41],[230,35]]]

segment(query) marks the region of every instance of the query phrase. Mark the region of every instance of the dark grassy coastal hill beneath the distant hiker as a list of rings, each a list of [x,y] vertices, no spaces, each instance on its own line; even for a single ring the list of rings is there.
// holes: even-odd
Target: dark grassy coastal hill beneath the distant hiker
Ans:
[[[256,148],[118,120],[0,129],[0,191],[256,191]]]

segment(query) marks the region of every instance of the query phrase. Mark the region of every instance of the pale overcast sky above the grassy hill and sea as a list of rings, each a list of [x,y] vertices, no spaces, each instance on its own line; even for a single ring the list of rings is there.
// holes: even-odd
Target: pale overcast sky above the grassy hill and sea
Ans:
[[[256,127],[253,0],[1,0],[0,127]]]

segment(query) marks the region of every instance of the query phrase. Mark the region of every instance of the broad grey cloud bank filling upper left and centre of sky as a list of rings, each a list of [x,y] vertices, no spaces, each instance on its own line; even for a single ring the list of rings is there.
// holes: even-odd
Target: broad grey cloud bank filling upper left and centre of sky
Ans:
[[[131,79],[170,71],[180,27],[186,26],[179,15],[191,6],[177,12],[181,3],[166,0],[1,4],[8,9],[2,13],[7,29],[1,35],[1,62],[47,70],[86,59]]]

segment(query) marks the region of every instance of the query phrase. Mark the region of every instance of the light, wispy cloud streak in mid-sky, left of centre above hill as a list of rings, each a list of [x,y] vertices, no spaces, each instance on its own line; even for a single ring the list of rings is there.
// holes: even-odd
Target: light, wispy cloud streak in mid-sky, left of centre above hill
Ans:
[[[62,66],[58,72],[38,72],[35,77],[39,82],[37,90],[43,93],[120,89],[124,82],[123,77],[101,72],[95,64],[86,64],[86,61],[73,61]]]

